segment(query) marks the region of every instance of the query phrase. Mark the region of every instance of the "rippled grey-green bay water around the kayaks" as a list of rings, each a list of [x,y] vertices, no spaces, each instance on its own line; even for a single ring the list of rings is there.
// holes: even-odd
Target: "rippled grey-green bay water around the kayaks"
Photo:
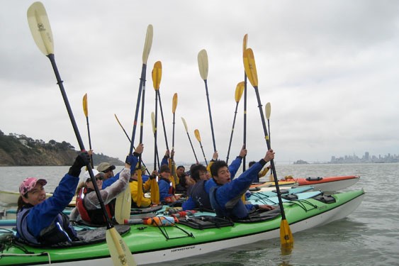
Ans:
[[[17,190],[25,177],[41,177],[52,192],[69,167],[0,167],[0,189]],[[118,169],[117,169],[118,170]],[[281,255],[279,239],[265,240],[208,255],[181,259],[177,265],[399,265],[399,164],[276,165],[280,177],[359,175],[351,189],[366,196],[353,214],[327,226],[295,233],[291,255]]]

